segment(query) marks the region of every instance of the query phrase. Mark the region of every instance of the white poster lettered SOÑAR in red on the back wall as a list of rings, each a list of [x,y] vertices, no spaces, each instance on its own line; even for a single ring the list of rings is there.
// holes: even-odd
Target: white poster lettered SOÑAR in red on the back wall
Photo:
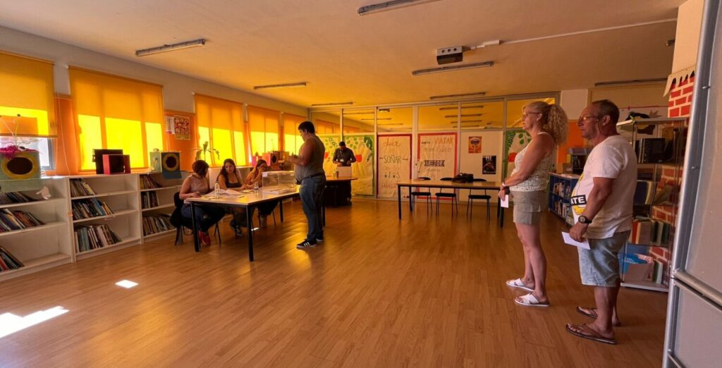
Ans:
[[[396,197],[396,183],[411,178],[411,134],[378,136],[378,196]]]

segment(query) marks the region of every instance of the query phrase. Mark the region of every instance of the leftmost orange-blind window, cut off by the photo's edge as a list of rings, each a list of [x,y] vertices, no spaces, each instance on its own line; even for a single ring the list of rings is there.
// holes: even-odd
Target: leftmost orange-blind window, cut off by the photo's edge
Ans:
[[[16,134],[19,145],[40,152],[43,169],[53,169],[53,63],[0,52],[0,80],[0,144],[14,144]]]

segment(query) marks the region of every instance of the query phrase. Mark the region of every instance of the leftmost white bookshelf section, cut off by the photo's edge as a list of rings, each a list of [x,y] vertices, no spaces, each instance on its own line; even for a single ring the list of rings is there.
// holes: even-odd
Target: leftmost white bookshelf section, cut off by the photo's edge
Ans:
[[[64,178],[43,178],[41,181],[50,190],[50,199],[45,200],[35,194],[38,190],[27,190],[20,193],[32,201],[0,204],[0,211],[22,211],[44,222],[39,226],[0,232],[0,247],[23,265],[20,268],[0,271],[0,281],[74,260],[68,216],[68,182]]]

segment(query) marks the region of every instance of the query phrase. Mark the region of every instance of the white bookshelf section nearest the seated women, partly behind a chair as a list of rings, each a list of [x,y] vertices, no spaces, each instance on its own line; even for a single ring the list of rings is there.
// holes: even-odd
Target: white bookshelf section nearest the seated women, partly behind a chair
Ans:
[[[152,240],[175,234],[170,224],[170,214],[175,209],[173,194],[181,190],[183,178],[187,172],[181,172],[180,179],[165,179],[160,172],[149,172],[138,176],[142,219],[141,232],[144,240]]]

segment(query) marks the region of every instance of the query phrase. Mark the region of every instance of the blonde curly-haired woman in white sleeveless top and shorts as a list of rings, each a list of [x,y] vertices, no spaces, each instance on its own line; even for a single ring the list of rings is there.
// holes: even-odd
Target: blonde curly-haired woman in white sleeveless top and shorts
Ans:
[[[519,305],[548,307],[547,258],[541,250],[539,222],[547,203],[549,170],[552,169],[554,146],[567,139],[567,114],[559,105],[531,102],[523,108],[523,129],[531,142],[516,155],[514,170],[501,183],[499,198],[509,189],[514,199],[514,223],[524,249],[524,276],[506,281],[511,287],[529,292],[514,299]]]

